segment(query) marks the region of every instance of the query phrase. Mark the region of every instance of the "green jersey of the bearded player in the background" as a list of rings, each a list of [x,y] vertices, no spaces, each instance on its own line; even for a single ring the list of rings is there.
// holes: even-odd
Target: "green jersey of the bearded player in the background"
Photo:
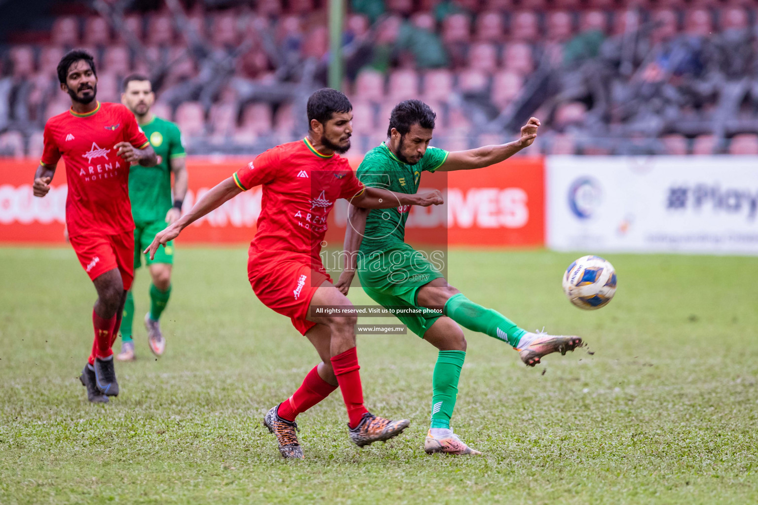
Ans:
[[[129,198],[136,223],[163,221],[171,201],[171,158],[184,156],[179,128],[171,121],[153,116],[140,126],[158,154],[155,167],[133,165],[129,169]]]

